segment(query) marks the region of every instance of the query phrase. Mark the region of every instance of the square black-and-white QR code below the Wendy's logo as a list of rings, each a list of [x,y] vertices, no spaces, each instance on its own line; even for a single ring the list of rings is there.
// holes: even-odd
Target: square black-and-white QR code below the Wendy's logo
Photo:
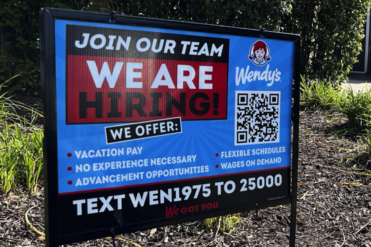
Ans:
[[[234,145],[279,142],[279,91],[236,91]]]

